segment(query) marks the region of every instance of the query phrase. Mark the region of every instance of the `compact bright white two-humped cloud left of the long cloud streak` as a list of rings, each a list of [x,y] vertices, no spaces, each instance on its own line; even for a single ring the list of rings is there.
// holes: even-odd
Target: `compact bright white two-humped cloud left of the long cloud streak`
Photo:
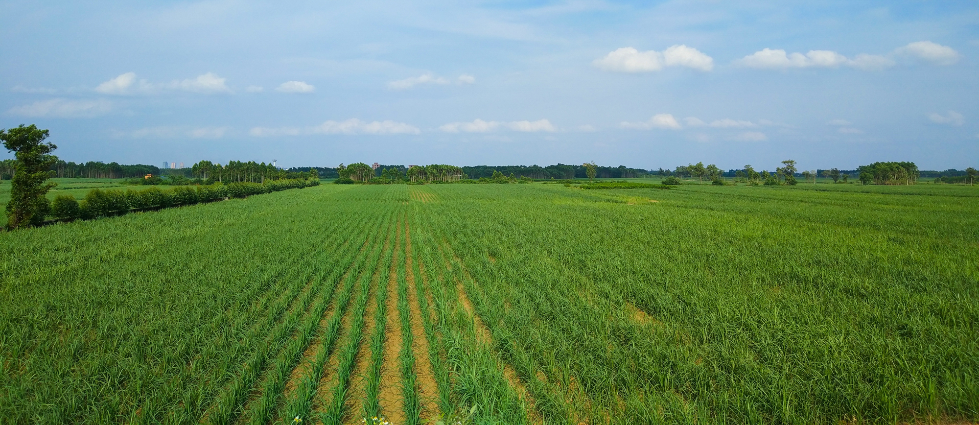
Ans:
[[[650,72],[664,67],[686,67],[700,71],[714,69],[714,59],[692,47],[683,44],[671,46],[662,53],[655,50],[640,52],[633,47],[621,47],[604,58],[596,59],[592,65],[604,71]]]

